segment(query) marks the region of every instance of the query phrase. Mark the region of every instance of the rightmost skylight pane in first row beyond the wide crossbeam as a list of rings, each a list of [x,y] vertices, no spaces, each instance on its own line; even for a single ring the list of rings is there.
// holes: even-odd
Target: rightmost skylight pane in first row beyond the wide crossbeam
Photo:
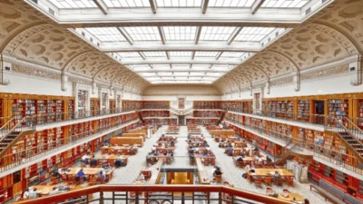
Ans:
[[[275,29],[274,27],[243,27],[234,40],[260,42]]]

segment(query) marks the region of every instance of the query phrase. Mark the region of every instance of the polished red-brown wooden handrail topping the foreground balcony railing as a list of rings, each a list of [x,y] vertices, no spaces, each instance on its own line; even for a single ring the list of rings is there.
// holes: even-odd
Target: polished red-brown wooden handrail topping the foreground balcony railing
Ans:
[[[228,193],[230,195],[255,200],[268,204],[292,204],[282,199],[273,198],[267,195],[258,194],[242,189],[234,189],[221,185],[98,185],[84,189],[76,189],[65,193],[56,194],[53,196],[42,197],[39,199],[27,199],[17,202],[18,204],[39,204],[53,203],[72,199],[88,194],[98,192],[126,192],[126,191],[147,191],[147,192],[204,192],[204,193]],[[236,200],[237,201],[237,200]]]

